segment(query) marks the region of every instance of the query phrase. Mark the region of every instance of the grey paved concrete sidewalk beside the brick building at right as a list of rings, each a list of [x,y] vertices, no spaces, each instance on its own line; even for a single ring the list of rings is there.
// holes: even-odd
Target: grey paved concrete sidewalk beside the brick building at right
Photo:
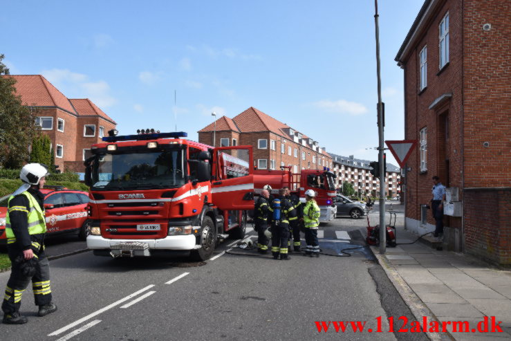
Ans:
[[[402,227],[397,228],[398,244],[417,239]],[[449,333],[455,340],[511,339],[511,271],[490,268],[471,257],[437,251],[420,241],[387,248],[385,255],[372,247],[375,256],[416,319],[422,316],[443,321],[467,321],[469,333]],[[490,332],[474,333],[478,322],[487,316]],[[503,333],[491,332],[491,317],[501,321]],[[408,328],[410,326],[408,325]],[[429,333],[432,340],[445,340],[445,333]]]

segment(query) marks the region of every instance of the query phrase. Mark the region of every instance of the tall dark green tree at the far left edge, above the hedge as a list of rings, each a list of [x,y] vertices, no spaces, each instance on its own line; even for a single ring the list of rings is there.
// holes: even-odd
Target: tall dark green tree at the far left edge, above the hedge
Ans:
[[[0,168],[19,168],[28,160],[28,146],[39,133],[35,112],[21,103],[15,83],[0,54]]]

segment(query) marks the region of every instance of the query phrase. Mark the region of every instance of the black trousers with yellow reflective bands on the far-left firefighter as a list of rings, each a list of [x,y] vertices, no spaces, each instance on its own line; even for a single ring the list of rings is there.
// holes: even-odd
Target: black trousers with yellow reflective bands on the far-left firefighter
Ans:
[[[2,311],[10,314],[19,311],[21,306],[21,295],[24,293],[30,281],[32,281],[32,291],[36,306],[42,306],[51,302],[50,289],[50,264],[44,251],[39,252],[37,257],[39,261],[35,263],[35,275],[28,277],[24,275],[21,264],[15,261],[19,256],[17,252],[9,252],[9,258],[12,263],[10,277],[7,282],[6,293],[3,296]]]

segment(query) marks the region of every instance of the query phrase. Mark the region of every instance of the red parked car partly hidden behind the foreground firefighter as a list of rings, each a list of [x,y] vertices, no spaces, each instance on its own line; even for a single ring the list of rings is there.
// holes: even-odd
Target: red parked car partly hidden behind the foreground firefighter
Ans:
[[[85,240],[89,234],[89,214],[87,206],[89,193],[68,190],[62,186],[45,186],[44,196],[46,232],[55,235],[64,232],[77,232]],[[0,242],[6,241],[6,215],[10,195],[0,199]]]

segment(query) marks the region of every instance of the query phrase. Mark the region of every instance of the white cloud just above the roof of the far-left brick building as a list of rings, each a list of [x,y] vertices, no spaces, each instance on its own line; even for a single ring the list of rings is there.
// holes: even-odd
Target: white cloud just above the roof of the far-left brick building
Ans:
[[[41,74],[68,98],[90,98],[101,108],[111,107],[117,102],[104,80],[91,81],[88,75],[62,68],[44,70]]]

